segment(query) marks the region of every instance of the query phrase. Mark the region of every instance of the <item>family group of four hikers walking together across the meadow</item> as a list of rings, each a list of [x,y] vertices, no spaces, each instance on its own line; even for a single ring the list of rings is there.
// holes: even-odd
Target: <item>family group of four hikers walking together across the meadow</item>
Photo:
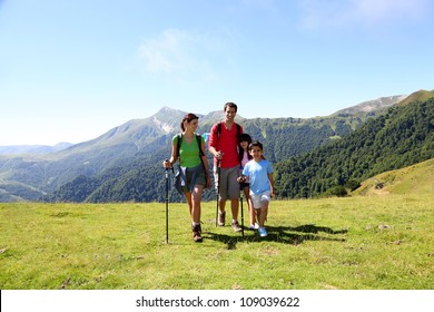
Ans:
[[[218,193],[218,225],[225,226],[226,202],[230,201],[231,227],[243,228],[238,222],[240,191],[244,192],[250,216],[250,230],[258,230],[259,236],[267,236],[264,223],[268,204],[274,196],[272,164],[264,157],[263,144],[251,140],[243,127],[235,123],[237,105],[226,103],[225,119],[213,125],[208,152],[214,156],[214,182]],[[191,216],[193,238],[203,242],[200,226],[200,202],[205,188],[211,186],[206,158],[205,139],[196,133],[199,117],[187,114],[180,124],[181,134],[171,140],[171,155],[164,162],[165,168],[179,163],[180,191],[187,199]]]

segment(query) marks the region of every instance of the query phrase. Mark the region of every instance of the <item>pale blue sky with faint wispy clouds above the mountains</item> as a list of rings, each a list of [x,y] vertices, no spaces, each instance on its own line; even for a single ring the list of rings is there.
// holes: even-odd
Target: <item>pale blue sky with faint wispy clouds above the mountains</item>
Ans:
[[[164,106],[314,117],[432,90],[433,16],[430,0],[0,0],[0,145],[85,142]]]

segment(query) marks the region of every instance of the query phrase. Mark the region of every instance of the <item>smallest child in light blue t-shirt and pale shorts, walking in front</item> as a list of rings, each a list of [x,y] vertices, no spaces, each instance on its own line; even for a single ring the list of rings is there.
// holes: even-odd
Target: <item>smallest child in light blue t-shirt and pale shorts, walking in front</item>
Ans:
[[[256,211],[259,222],[259,236],[267,236],[264,227],[268,214],[268,204],[274,196],[274,177],[272,164],[263,157],[263,144],[254,140],[249,145],[249,153],[253,157],[243,169],[239,183],[248,182],[250,187],[251,204]]]

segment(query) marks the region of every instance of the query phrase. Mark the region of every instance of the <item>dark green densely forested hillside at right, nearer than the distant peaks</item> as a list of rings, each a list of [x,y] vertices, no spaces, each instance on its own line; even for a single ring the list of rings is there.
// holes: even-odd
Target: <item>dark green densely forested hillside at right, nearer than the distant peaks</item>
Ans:
[[[327,146],[275,166],[279,198],[345,194],[376,174],[434,157],[434,98],[395,106]]]

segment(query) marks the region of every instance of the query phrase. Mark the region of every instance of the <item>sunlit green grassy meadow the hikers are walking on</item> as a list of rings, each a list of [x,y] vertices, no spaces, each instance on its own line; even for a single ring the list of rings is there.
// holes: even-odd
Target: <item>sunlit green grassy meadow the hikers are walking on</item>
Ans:
[[[186,204],[0,204],[0,289],[434,289],[434,195],[275,201],[260,238]],[[227,205],[229,206],[229,204]],[[230,216],[230,213],[229,215]],[[245,224],[247,224],[245,207]]]

